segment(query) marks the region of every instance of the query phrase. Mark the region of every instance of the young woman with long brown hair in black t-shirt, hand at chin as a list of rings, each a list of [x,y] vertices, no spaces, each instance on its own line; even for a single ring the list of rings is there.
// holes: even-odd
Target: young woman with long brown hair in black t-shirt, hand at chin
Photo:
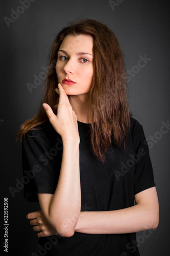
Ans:
[[[27,215],[36,255],[139,255],[135,232],[158,226],[159,205],[143,129],[128,110],[123,55],[107,26],[83,19],[57,35],[42,103],[18,133],[24,196],[41,207]]]

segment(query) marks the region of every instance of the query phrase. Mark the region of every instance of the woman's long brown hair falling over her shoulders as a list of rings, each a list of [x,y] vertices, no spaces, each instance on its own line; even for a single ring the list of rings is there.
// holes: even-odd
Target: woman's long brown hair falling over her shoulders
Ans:
[[[52,108],[58,104],[59,96],[54,93],[58,80],[55,70],[59,47],[68,34],[85,34],[93,37],[93,78],[88,94],[90,138],[94,155],[102,162],[111,134],[116,146],[127,139],[130,129],[130,114],[126,94],[126,75],[123,54],[114,33],[104,24],[93,19],[83,19],[64,28],[52,45],[50,63],[44,81],[44,92],[38,113],[20,126],[19,142],[33,127],[49,122],[42,103]],[[71,47],[71,46],[70,46]],[[74,47],[74,46],[72,46]],[[95,117],[95,122],[93,118]]]

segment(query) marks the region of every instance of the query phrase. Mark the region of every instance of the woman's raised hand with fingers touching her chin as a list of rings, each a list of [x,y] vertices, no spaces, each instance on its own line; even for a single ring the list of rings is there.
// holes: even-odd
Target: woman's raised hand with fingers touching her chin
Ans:
[[[54,129],[62,137],[63,143],[75,140],[80,141],[77,116],[72,110],[68,96],[60,83],[58,84],[58,88],[56,88],[56,92],[60,95],[60,98],[57,116],[48,104],[43,103],[43,107]]]

